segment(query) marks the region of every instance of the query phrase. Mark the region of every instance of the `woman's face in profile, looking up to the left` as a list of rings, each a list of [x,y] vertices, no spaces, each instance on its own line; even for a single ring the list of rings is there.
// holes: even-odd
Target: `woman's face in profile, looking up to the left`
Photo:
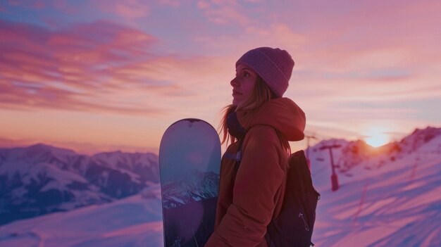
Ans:
[[[256,84],[257,74],[247,65],[239,64],[236,67],[236,77],[231,80],[232,104],[238,106],[248,99]]]

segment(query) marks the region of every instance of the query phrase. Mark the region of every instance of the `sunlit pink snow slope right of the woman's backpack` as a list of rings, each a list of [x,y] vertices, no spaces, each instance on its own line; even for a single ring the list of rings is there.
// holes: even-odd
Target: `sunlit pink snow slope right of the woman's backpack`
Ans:
[[[403,145],[411,139],[421,138]],[[312,170],[321,192],[316,246],[441,246],[440,134],[338,173],[335,192],[328,163],[313,163]]]

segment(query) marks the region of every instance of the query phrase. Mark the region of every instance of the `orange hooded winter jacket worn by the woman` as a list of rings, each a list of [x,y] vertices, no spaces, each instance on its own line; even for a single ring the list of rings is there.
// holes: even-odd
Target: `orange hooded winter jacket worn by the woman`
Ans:
[[[251,114],[247,121],[245,114]],[[287,98],[267,101],[254,113],[237,112],[237,118],[247,129],[242,161],[236,174],[235,160],[222,159],[215,232],[206,247],[267,246],[266,226],[280,213],[287,170],[275,129],[288,141],[304,139],[304,112]],[[226,152],[237,152],[237,146]]]

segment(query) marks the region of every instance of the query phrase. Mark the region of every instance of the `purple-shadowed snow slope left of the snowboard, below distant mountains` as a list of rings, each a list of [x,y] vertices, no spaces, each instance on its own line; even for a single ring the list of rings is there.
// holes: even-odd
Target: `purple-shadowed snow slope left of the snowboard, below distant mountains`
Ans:
[[[163,246],[159,184],[104,205],[19,220],[0,227],[0,246]]]

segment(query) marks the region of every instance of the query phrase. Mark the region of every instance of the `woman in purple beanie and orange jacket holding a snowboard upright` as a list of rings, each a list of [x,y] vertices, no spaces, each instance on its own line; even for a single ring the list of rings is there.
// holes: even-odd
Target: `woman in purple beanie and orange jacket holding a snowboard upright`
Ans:
[[[268,246],[266,227],[280,213],[285,192],[288,141],[304,139],[304,112],[282,98],[293,67],[287,51],[269,47],[252,49],[236,63],[232,104],[222,122],[223,143],[231,144],[221,163],[215,232],[207,247]]]

